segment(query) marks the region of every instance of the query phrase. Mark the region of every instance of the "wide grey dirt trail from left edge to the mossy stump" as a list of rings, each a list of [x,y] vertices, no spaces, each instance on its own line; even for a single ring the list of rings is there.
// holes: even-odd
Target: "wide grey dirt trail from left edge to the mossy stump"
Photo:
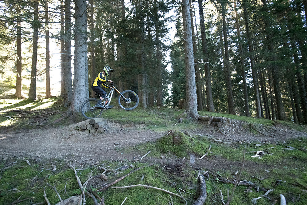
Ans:
[[[120,128],[115,124],[114,127],[110,125],[107,132],[95,135],[79,131],[70,132],[67,128],[0,134],[0,153],[38,159],[57,158],[77,161],[128,159],[130,154],[121,155],[119,148],[156,140],[164,135],[162,132],[137,128],[135,126]],[[132,155],[134,154],[131,153]]]

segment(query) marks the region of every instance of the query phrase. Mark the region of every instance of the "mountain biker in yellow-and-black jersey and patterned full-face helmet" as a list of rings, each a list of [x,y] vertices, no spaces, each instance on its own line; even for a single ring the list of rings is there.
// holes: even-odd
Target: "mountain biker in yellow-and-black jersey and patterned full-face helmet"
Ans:
[[[104,108],[104,106],[102,106],[100,103],[104,100],[104,98],[107,97],[107,93],[100,87],[100,85],[102,84],[103,87],[105,88],[112,88],[111,86],[106,84],[106,82],[113,83],[113,81],[107,80],[107,76],[109,76],[112,71],[114,70],[111,69],[109,66],[105,66],[103,68],[103,71],[98,73],[98,76],[95,78],[95,80],[92,83],[92,86],[91,86],[92,90],[94,90],[96,93],[101,95],[98,103],[95,105],[95,107],[97,108]],[[108,99],[106,99],[105,105],[107,105],[107,103],[108,103]],[[112,108],[112,107],[113,106],[108,106],[108,108]]]

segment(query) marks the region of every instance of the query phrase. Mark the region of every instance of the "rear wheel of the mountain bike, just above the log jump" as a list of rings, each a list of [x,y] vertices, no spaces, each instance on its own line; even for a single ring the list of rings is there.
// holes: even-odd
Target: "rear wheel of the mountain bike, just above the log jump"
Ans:
[[[95,108],[98,103],[98,99],[90,98],[84,101],[81,105],[81,113],[87,119],[99,117],[103,111],[102,108]]]

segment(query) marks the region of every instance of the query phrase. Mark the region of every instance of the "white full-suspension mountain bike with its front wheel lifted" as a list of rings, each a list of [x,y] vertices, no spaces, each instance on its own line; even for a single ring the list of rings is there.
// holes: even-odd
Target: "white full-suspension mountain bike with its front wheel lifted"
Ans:
[[[99,117],[104,110],[110,109],[109,104],[111,103],[111,99],[114,93],[114,90],[119,94],[118,104],[124,110],[133,110],[138,106],[139,98],[138,95],[132,90],[125,90],[123,92],[119,92],[118,89],[115,88],[115,84],[111,83],[112,89],[109,95],[104,98],[100,104],[103,108],[96,108],[95,105],[98,103],[99,99],[89,98],[81,105],[81,113],[87,119],[97,118]],[[101,97],[101,95],[96,94]],[[106,101],[107,99],[107,101]]]

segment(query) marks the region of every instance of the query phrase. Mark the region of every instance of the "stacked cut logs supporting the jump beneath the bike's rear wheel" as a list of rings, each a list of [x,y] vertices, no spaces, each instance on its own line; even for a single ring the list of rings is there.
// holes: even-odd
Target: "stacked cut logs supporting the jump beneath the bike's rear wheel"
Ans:
[[[107,122],[103,117],[85,120],[76,125],[75,130],[84,131],[86,133],[104,132],[107,130]]]

